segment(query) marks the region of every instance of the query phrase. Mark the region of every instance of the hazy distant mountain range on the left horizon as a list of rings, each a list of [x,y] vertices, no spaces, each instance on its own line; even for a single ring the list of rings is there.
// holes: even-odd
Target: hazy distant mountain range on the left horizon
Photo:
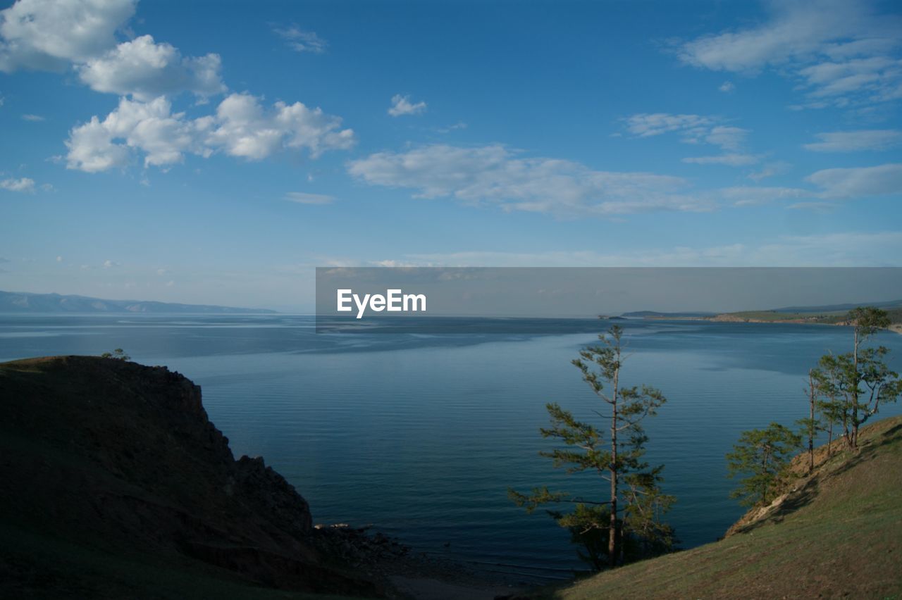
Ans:
[[[0,313],[192,313],[273,314],[260,308],[214,305],[179,305],[144,300],[104,300],[85,295],[29,294],[0,291]]]

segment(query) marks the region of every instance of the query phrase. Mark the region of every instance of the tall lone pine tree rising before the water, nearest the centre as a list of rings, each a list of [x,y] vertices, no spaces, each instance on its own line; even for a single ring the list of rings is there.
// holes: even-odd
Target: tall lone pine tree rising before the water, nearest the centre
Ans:
[[[581,350],[573,364],[608,406],[609,414],[594,411],[606,424],[596,427],[577,420],[557,403],[548,404],[551,426],[539,431],[542,437],[560,441],[564,447],[540,454],[568,473],[598,474],[610,484],[607,498],[585,500],[565,492],[550,492],[548,487],[537,487],[529,495],[512,489],[508,493],[528,512],[539,505],[574,504],[570,513],[548,513],[584,547],[587,554],[581,556],[594,568],[603,568],[670,550],[674,533],[661,517],[675,500],[661,491],[663,465],[651,468],[643,459],[648,436],[640,424],[645,417],[655,415],[667,399],[653,387],[621,386],[624,357],[620,327],[615,325],[598,338],[603,344]]]

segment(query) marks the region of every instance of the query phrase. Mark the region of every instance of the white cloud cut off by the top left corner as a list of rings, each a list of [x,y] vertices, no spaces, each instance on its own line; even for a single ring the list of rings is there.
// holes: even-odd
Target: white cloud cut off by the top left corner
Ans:
[[[19,0],[0,11],[0,71],[57,70],[115,46],[136,0]]]

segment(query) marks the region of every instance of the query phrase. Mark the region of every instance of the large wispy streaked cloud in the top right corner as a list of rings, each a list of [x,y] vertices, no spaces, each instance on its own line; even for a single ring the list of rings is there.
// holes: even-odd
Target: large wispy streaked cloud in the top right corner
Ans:
[[[765,23],[704,35],[678,49],[686,64],[755,74],[767,68],[799,82],[811,106],[873,103],[902,97],[902,18],[870,2],[769,3]]]

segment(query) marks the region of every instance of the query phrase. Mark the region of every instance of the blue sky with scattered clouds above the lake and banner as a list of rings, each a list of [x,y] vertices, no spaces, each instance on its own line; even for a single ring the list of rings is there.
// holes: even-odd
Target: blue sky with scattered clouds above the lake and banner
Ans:
[[[0,289],[902,266],[892,2],[0,0]]]

